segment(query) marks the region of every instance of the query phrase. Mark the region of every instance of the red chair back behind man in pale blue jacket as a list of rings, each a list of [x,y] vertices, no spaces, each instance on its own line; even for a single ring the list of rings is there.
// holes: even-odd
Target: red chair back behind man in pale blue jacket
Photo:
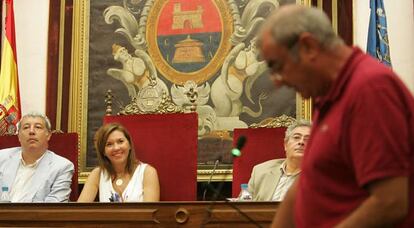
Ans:
[[[16,135],[0,136],[0,149],[17,146],[20,146],[20,142]],[[75,166],[75,173],[72,177],[72,192],[70,193],[70,201],[78,200],[78,134],[52,134],[49,141],[49,150],[67,158]]]

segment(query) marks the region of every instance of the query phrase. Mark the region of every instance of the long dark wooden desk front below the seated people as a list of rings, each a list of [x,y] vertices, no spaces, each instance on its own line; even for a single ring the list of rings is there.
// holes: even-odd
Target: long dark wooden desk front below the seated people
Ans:
[[[263,227],[276,202],[231,203]],[[72,227],[254,227],[226,202],[160,203],[15,203],[0,204],[0,226]]]

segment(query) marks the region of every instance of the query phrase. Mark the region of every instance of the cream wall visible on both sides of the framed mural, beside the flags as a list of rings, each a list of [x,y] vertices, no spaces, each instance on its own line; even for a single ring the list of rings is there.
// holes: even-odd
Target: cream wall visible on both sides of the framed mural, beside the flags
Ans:
[[[17,0],[14,4],[22,113],[44,112],[49,0]],[[384,0],[384,5],[393,68],[414,93],[413,1],[399,0],[397,4]],[[354,41],[363,50],[368,21],[369,0],[354,0]]]

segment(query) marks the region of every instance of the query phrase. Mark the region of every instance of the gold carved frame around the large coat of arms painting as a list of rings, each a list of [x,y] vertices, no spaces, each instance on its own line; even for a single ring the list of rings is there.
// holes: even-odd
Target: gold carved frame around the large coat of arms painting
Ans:
[[[310,0],[297,0],[298,4],[311,5]],[[71,81],[69,91],[68,132],[79,134],[79,182],[88,176],[86,166],[87,130],[88,130],[88,66],[89,66],[89,31],[90,1],[73,1],[72,59]],[[103,99],[103,98],[102,98]],[[296,117],[311,119],[311,101],[296,95]],[[231,169],[216,171],[218,179],[231,180]],[[210,170],[198,171],[198,180],[206,181]],[[230,178],[230,179],[229,179]]]

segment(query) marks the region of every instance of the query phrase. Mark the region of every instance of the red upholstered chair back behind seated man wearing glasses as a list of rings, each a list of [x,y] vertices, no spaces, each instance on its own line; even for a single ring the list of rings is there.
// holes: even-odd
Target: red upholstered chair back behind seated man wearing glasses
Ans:
[[[240,193],[240,184],[248,183],[255,165],[267,160],[284,158],[286,128],[234,129],[233,144],[240,136],[246,137],[242,155],[233,160],[232,197]]]

